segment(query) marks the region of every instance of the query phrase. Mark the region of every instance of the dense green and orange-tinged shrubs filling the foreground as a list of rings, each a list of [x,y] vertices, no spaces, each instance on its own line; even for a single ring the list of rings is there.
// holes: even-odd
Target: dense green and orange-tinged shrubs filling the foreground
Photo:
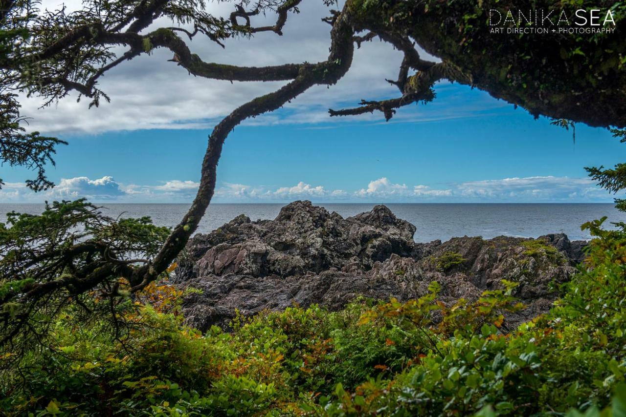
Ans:
[[[513,287],[439,303],[358,300],[233,321],[233,332],[183,325],[182,291],[151,284],[118,304],[128,333],[68,306],[51,338],[4,368],[0,408],[98,415],[553,414],[626,411],[626,231],[596,236],[549,314],[505,333]],[[124,283],[121,283],[123,286]],[[96,308],[99,298],[85,299]],[[11,353],[2,358],[11,361]],[[611,398],[613,397],[613,401]],[[601,410],[604,409],[602,412]]]

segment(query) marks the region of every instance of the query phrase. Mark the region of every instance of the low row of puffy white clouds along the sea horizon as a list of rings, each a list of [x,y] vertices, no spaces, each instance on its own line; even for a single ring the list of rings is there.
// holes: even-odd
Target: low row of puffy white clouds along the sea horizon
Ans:
[[[53,189],[33,193],[22,183],[7,183],[0,190],[3,203],[41,203],[44,200],[88,198],[111,203],[188,203],[198,183],[172,180],[155,186],[120,184],[111,176],[99,179],[61,179]],[[386,177],[366,187],[346,191],[300,181],[294,186],[270,188],[223,183],[215,190],[215,203],[285,203],[297,199],[324,202],[375,203],[610,203],[612,195],[588,178],[533,176],[490,179],[431,188],[398,184]]]

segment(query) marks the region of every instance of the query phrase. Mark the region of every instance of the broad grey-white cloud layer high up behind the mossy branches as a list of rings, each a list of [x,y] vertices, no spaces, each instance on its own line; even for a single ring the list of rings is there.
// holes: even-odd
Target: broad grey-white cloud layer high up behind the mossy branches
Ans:
[[[63,2],[68,3],[68,2]],[[53,9],[59,0],[44,0],[43,8]],[[69,9],[79,7],[78,0],[71,0]],[[341,4],[340,4],[341,6]],[[227,16],[233,8],[230,2],[207,4],[211,13]],[[333,8],[336,8],[334,6]],[[303,2],[301,13],[290,14],[284,36],[259,33],[252,39],[228,39],[226,48],[206,38],[197,36],[190,43],[193,53],[206,61],[238,65],[275,65],[323,61],[327,58],[330,34],[326,23],[329,8],[322,2]],[[255,16],[255,23],[269,24],[275,15]],[[163,23],[163,22],[162,22]],[[165,21],[165,26],[171,23]],[[122,48],[116,49],[119,53]],[[427,59],[434,59],[422,51]],[[88,100],[76,103],[77,95],[58,104],[38,109],[42,99],[24,98],[23,114],[31,116],[29,129],[46,134],[103,133],[116,130],[137,129],[211,129],[214,124],[233,109],[255,96],[274,91],[285,82],[240,83],[209,80],[190,76],[185,69],[168,62],[172,53],[157,49],[150,56],[142,55],[125,61],[100,79],[99,88],[111,98],[100,108],[88,109]],[[402,55],[390,44],[380,41],[363,43],[356,50],[350,71],[336,86],[314,86],[280,111],[250,119],[248,124],[317,124],[352,123],[354,121],[383,121],[379,113],[364,114],[352,118],[329,118],[329,108],[355,106],[361,99],[394,98],[397,89],[384,81],[398,73]],[[375,64],[372,64],[375,63]],[[129,80],[131,83],[129,83]],[[367,86],[367,88],[364,88]],[[448,83],[438,85],[448,88]],[[458,103],[458,104],[455,104]],[[476,117],[476,109],[493,109],[505,104],[493,99],[474,101],[449,100],[444,106],[429,104],[428,114],[416,113],[409,108],[400,109],[393,123],[400,121],[433,121]]]

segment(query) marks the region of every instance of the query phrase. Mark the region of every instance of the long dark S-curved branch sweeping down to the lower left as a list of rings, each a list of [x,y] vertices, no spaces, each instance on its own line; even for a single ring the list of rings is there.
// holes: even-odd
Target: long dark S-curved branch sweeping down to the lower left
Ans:
[[[31,280],[31,282],[16,286],[15,291],[11,291],[6,298],[0,301],[2,305],[19,304],[23,307],[18,309],[12,307],[18,313],[13,317],[11,326],[6,328],[6,333],[0,340],[0,346],[11,341],[21,329],[28,331],[29,320],[36,311],[35,306],[41,308],[40,304],[44,303],[43,300],[53,294],[60,294],[61,304],[63,304],[68,302],[68,297],[78,296],[95,288],[106,289],[111,287],[113,289],[108,291],[107,296],[110,298],[110,303],[113,303],[113,297],[119,287],[119,278],[128,279],[131,291],[140,291],[148,283],[161,276],[197,229],[198,223],[212,199],[215,191],[217,164],[228,134],[245,119],[273,111],[315,84],[336,83],[352,64],[353,33],[349,13],[342,14],[332,28],[331,52],[326,61],[300,66],[297,76],[289,84],[274,91],[274,93],[257,97],[240,106],[215,126],[209,137],[207,151],[203,158],[197,196],[188,213],[167,236],[151,260],[119,259],[115,251],[112,251],[107,244],[100,244],[97,240],[92,240],[88,243],[75,243],[71,246],[64,244],[63,249],[46,250],[39,256],[33,256],[26,263],[6,265],[9,270],[21,269],[24,272],[30,270],[33,264],[41,265],[42,268],[38,269],[38,277],[40,278],[32,279],[30,276],[24,275],[23,279]],[[82,206],[78,204],[78,207]],[[79,221],[83,213],[86,216],[91,216],[92,212],[91,209],[78,211],[74,221]],[[75,240],[78,237],[71,239]],[[129,249],[129,251],[131,250]],[[89,261],[96,254],[98,259]],[[73,259],[78,256],[86,257],[87,261],[81,263],[84,265],[81,268],[74,268]],[[138,266],[133,264],[135,261],[141,261],[145,264]],[[59,276],[56,271],[60,270],[63,270],[63,273]],[[49,277],[58,278],[49,279]],[[4,316],[8,317],[7,314],[10,313],[7,312]]]

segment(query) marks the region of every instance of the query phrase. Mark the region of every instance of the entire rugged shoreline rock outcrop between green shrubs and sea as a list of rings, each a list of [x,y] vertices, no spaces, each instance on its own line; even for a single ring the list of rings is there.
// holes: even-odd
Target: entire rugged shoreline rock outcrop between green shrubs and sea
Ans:
[[[527,306],[506,317],[510,327],[550,309],[558,296],[551,283],[570,279],[587,244],[562,233],[415,243],[415,231],[382,205],[345,219],[310,201],[287,204],[274,220],[241,214],[196,234],[178,257],[175,284],[202,290],[185,297],[183,314],[205,331],[228,328],[235,309],[249,316],[294,304],[337,310],[358,296],[406,301],[426,294],[431,281],[448,303],[509,279],[520,283],[515,295]]]

